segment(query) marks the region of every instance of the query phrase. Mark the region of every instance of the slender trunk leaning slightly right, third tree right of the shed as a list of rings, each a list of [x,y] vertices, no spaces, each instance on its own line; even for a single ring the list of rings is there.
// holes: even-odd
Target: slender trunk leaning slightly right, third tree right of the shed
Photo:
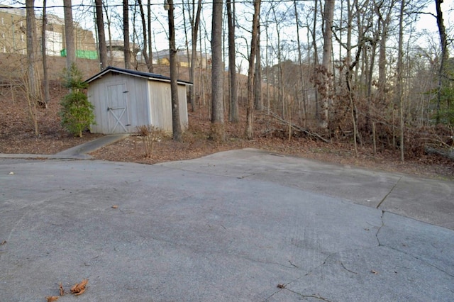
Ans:
[[[253,98],[253,82],[254,82],[254,58],[257,53],[256,47],[258,44],[258,26],[260,16],[261,0],[254,0],[254,16],[253,16],[253,32],[250,43],[250,56],[248,67],[248,109],[246,111],[246,130],[245,136],[248,140],[253,139],[253,121],[254,121],[254,98]]]

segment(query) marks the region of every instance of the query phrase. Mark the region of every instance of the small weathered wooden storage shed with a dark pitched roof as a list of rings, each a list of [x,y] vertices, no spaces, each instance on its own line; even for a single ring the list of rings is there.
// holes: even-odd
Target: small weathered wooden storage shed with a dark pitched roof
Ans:
[[[92,133],[134,133],[140,125],[172,131],[170,77],[109,66],[86,82],[96,121]],[[179,118],[184,130],[188,126],[188,85],[192,83],[178,80]]]

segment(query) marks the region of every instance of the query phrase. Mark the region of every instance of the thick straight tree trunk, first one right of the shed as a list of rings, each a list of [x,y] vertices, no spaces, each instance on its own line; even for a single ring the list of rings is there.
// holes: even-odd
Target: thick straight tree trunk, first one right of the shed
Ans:
[[[222,64],[222,0],[213,1],[211,23],[211,123],[217,140],[223,140],[223,64]],[[213,132],[213,131],[212,131]],[[215,138],[215,137],[214,137]]]

